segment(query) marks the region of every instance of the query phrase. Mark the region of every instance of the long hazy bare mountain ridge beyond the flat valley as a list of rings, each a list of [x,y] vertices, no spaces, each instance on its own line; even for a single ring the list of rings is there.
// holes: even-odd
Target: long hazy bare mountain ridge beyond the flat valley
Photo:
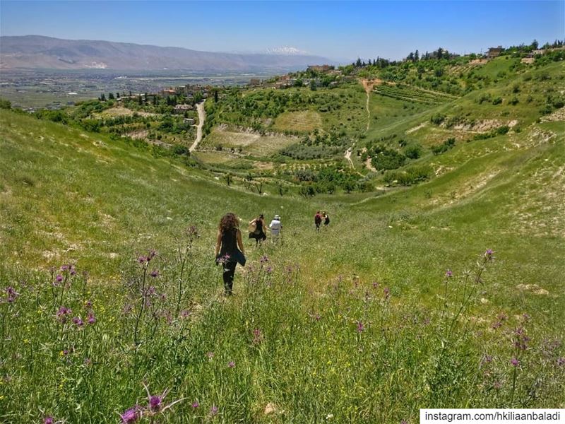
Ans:
[[[306,54],[199,52],[124,42],[0,37],[0,69],[258,71],[304,69],[331,59]]]

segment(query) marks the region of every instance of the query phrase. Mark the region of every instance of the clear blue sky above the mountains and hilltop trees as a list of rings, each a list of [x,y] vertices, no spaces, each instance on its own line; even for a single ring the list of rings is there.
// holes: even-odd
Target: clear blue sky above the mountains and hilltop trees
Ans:
[[[561,1],[4,1],[1,35],[330,58],[480,52],[565,37]]]

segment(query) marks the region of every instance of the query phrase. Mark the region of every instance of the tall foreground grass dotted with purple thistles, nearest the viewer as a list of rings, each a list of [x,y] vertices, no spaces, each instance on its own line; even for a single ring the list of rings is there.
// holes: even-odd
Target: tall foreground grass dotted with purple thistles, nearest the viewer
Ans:
[[[492,251],[448,271],[435,307],[359,278],[314,291],[266,256],[222,298],[196,234],[132,258],[119,287],[4,266],[2,420],[415,423],[423,407],[562,406],[560,341],[527,315],[487,331],[475,315]]]

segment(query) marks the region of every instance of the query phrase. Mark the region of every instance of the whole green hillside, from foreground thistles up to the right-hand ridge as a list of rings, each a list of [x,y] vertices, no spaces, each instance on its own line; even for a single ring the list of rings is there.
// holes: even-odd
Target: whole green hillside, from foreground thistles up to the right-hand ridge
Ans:
[[[257,155],[162,154],[0,110],[1,420],[115,423],[138,405],[143,422],[413,423],[424,407],[565,407],[563,69],[463,95],[375,86],[367,131],[359,83],[319,89],[343,93],[345,112],[258,117],[269,146],[231,139]],[[280,102],[263,94],[250,94],[262,110]],[[204,147],[239,131],[222,114]],[[304,130],[267,134],[289,125]],[[273,150],[304,136],[284,160]],[[354,168],[342,153],[290,155],[316,146],[351,147]],[[299,194],[324,175],[371,187]],[[317,210],[331,216],[320,233]],[[213,248],[227,211],[244,236],[246,220],[279,213],[284,243],[244,240],[226,299]],[[151,410],[143,384],[182,401]]]

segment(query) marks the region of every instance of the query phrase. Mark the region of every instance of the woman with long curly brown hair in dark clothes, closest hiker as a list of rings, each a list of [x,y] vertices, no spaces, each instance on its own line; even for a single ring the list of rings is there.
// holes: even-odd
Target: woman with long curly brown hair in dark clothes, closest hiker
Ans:
[[[245,266],[242,232],[239,231],[239,219],[234,213],[226,213],[220,220],[215,260],[216,264],[222,264],[225,295],[230,296],[234,285],[235,266],[238,263]]]

